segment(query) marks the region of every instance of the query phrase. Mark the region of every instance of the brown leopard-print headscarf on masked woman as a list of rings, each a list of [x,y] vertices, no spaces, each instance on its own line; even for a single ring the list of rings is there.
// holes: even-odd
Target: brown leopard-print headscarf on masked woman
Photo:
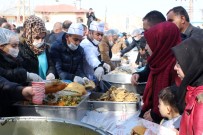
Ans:
[[[46,49],[46,46],[37,48],[32,45],[34,38],[40,33],[46,33],[46,27],[43,20],[35,15],[31,15],[25,20],[24,24],[24,38],[26,43],[30,46],[35,54],[40,54]]]

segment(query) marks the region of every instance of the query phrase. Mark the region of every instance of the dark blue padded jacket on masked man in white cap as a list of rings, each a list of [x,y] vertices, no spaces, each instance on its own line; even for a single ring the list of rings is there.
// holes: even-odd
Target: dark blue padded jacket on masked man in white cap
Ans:
[[[72,51],[65,40],[62,40],[62,43],[56,41],[52,44],[50,53],[60,79],[73,81],[75,76],[85,77],[83,72],[84,50],[81,46]]]

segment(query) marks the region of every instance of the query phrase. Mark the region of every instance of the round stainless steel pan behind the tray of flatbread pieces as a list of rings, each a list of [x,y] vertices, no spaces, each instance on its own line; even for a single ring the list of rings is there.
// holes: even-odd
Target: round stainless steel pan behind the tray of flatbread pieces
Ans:
[[[113,85],[116,87],[123,87],[130,92],[142,95],[146,82],[138,83],[137,86],[133,86],[131,84],[131,76],[132,75],[129,74],[106,74],[102,77],[101,87],[104,91],[106,91]]]

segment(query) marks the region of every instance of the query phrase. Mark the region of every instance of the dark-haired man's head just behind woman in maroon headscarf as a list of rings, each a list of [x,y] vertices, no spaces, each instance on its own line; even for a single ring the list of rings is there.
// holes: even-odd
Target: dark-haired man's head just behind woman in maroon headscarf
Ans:
[[[152,26],[160,22],[166,21],[166,18],[161,12],[153,10],[147,13],[145,17],[142,19],[142,21],[143,21],[143,29],[148,30]]]

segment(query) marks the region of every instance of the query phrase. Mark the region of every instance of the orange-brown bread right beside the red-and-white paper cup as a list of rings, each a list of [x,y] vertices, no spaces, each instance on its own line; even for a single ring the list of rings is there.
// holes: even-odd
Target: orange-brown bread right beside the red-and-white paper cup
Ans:
[[[57,79],[48,81],[45,84],[45,94],[56,93],[60,90],[63,90],[66,86],[67,86],[66,83],[64,83],[60,80],[57,80]]]

